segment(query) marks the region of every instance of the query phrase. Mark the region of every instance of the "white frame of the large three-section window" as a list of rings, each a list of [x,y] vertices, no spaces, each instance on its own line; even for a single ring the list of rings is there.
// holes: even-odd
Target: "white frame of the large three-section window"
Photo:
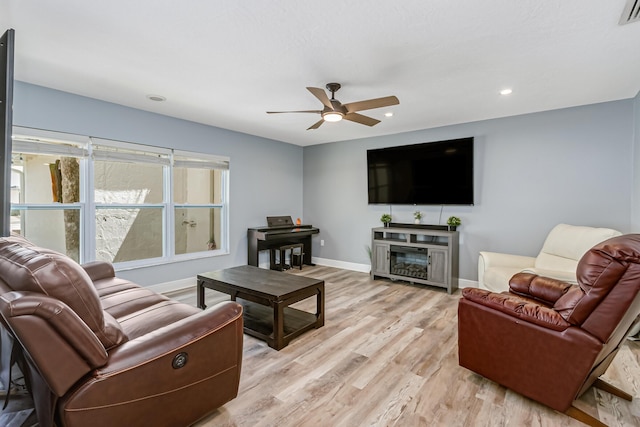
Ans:
[[[151,146],[146,144],[138,144],[124,141],[116,141],[104,138],[96,138],[90,136],[83,135],[75,135],[68,133],[61,133],[55,131],[48,131],[42,129],[33,129],[26,127],[13,127],[13,139],[14,141],[22,141],[23,143],[18,143],[13,147],[13,153],[23,153],[25,151],[20,151],[20,148],[31,147],[30,150],[25,153],[32,153],[35,151],[35,154],[43,153],[50,155],[58,155],[64,156],[66,152],[64,150],[60,150],[57,152],[53,151],[42,151],[39,152],[37,149],[46,149],[50,148],[50,146],[46,146],[44,144],[51,143],[62,143],[62,144],[71,144],[79,146],[83,151],[83,156],[75,156],[79,159],[80,163],[80,201],[77,203],[18,203],[11,204],[12,210],[64,210],[64,209],[78,209],[80,210],[80,230],[79,230],[79,239],[80,239],[80,250],[79,257],[80,263],[86,263],[90,261],[96,260],[96,210],[104,209],[104,208],[112,208],[112,209],[162,209],[162,256],[154,257],[154,258],[145,258],[140,260],[132,260],[132,261],[120,261],[114,262],[114,268],[117,271],[122,270],[130,270],[136,269],[140,267],[147,267],[159,264],[166,264],[172,262],[183,262],[188,260],[202,259],[202,258],[212,258],[221,255],[228,255],[229,251],[229,164],[230,158],[225,156],[217,156],[208,153],[200,153],[194,151],[182,151],[170,148],[162,148],[157,146]],[[37,144],[42,144],[42,147],[37,147]],[[160,155],[164,156],[163,158],[167,159],[166,161],[158,162],[158,164],[163,165],[162,170],[162,179],[163,179],[163,197],[160,203],[139,203],[139,204],[129,204],[129,203],[98,203],[95,201],[95,183],[94,183],[94,172],[95,172],[95,156],[97,152],[100,152],[104,147],[111,147],[113,149],[122,149],[126,151],[132,152],[140,152],[145,154]],[[94,150],[96,152],[94,152]],[[76,153],[77,154],[77,153]],[[123,160],[115,160],[117,156],[114,155],[114,161],[123,161]],[[124,156],[126,158],[126,156]],[[182,166],[176,166],[176,157],[183,159],[178,160],[178,164]],[[186,160],[184,160],[186,159]],[[105,160],[105,158],[100,158],[99,160]],[[130,160],[135,163],[135,155],[133,155]],[[181,163],[182,162],[182,163]],[[184,166],[186,163],[191,162],[194,167],[203,167],[206,165],[211,166],[210,169],[219,169],[222,171],[220,174],[221,182],[220,182],[220,202],[219,203],[176,203],[174,197],[174,168],[175,167],[189,167]],[[153,161],[149,161],[149,163],[153,163]],[[198,166],[199,165],[199,166]],[[204,167],[208,169],[208,167]],[[24,188],[21,188],[21,191],[24,191]],[[176,228],[175,228],[175,210],[176,208],[215,208],[220,209],[220,239],[221,242],[217,243],[217,248],[213,250],[203,250],[198,252],[187,252],[183,254],[175,253],[175,239],[176,239]],[[24,234],[24,230],[22,231]]]

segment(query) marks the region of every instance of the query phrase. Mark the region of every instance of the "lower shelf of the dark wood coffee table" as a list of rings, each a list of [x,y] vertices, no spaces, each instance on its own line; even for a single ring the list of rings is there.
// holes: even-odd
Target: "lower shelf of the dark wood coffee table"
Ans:
[[[243,307],[244,333],[265,341],[270,347],[279,347],[276,343],[273,326],[273,308],[251,301],[236,299]],[[284,334],[282,342],[288,344],[292,339],[308,330],[317,328],[318,317],[306,311],[284,307]]]

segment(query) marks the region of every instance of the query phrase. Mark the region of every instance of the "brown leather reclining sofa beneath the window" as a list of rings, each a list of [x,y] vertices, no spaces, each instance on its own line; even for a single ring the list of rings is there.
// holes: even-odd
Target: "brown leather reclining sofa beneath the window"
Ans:
[[[40,426],[187,426],[238,394],[235,302],[201,311],[19,236],[0,238],[0,294],[2,370],[13,348]]]

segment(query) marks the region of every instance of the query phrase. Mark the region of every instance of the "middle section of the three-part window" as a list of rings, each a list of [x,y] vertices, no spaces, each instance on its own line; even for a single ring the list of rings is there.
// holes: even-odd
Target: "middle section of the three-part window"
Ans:
[[[95,258],[163,258],[170,150],[92,140]]]

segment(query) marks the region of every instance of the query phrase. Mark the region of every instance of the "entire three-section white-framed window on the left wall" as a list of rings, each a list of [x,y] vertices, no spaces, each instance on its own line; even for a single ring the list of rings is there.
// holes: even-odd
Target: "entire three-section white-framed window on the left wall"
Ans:
[[[228,253],[228,169],[228,158],[14,128],[11,228],[119,268]]]

